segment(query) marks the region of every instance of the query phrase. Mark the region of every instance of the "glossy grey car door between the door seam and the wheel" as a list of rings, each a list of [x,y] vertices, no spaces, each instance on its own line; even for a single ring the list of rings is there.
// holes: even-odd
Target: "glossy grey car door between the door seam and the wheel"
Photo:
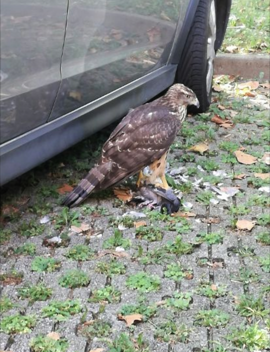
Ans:
[[[49,120],[165,65],[187,0],[69,0],[62,82]]]

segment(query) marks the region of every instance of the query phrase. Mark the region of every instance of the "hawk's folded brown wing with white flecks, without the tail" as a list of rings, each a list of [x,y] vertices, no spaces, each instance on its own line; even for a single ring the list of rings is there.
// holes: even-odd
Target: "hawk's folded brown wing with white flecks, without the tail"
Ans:
[[[179,126],[176,116],[163,106],[142,105],[131,111],[102,148],[100,161],[113,162],[110,177],[102,182],[102,188],[159,159],[172,144]]]

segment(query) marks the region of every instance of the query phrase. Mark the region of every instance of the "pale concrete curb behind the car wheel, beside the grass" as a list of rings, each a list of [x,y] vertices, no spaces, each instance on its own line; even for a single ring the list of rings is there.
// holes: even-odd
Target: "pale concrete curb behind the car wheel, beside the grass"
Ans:
[[[239,75],[243,78],[270,78],[268,54],[221,54],[214,59],[214,74]]]

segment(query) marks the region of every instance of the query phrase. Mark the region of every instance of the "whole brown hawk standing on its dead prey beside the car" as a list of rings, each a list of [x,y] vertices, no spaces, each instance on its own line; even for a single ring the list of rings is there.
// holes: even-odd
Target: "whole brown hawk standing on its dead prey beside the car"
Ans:
[[[129,111],[104,143],[97,163],[67,194],[63,205],[78,205],[91,192],[113,186],[138,171],[138,186],[150,183],[168,188],[166,156],[188,105],[199,106],[195,93],[175,83],[163,96]]]

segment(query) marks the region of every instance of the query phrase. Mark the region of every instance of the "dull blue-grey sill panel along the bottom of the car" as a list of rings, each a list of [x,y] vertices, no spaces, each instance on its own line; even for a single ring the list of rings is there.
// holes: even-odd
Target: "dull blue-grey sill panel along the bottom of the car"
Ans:
[[[170,86],[177,65],[167,65],[54,119],[0,147],[0,184],[30,170],[123,116]],[[16,167],[14,167],[14,165]]]

